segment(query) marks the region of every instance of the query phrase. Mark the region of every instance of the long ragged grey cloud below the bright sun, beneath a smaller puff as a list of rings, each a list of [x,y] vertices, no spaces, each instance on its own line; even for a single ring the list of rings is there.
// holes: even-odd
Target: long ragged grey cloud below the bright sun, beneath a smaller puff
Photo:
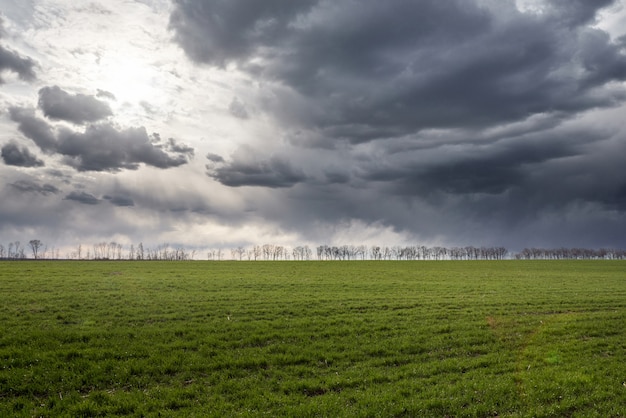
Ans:
[[[18,129],[49,154],[60,154],[79,171],[136,170],[140,164],[170,168],[186,164],[193,148],[174,139],[161,141],[143,127],[120,129],[110,123],[87,125],[84,131],[54,127],[32,109],[11,108]]]

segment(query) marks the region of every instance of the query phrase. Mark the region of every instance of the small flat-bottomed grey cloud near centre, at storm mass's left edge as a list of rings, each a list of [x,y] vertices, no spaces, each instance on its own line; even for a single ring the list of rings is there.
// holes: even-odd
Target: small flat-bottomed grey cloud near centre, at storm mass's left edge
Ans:
[[[231,186],[262,186],[269,188],[291,187],[306,180],[301,170],[280,156],[259,158],[249,147],[242,147],[229,162],[209,154],[207,175],[220,183]]]

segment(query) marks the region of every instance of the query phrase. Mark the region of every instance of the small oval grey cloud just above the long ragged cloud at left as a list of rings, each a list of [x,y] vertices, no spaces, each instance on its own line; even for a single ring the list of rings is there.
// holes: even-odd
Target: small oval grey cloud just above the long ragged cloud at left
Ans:
[[[39,108],[53,120],[64,120],[77,125],[96,122],[113,115],[109,105],[93,96],[70,94],[58,86],[39,90]]]

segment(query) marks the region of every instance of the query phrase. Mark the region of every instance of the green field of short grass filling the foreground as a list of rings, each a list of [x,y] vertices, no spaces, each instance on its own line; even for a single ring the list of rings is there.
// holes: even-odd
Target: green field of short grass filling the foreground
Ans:
[[[0,416],[626,416],[626,262],[0,262]]]

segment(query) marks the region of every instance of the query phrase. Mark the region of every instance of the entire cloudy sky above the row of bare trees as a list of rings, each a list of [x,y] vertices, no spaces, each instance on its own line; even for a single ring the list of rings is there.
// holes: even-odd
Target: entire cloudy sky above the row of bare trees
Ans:
[[[626,248],[625,6],[0,0],[0,244]]]

